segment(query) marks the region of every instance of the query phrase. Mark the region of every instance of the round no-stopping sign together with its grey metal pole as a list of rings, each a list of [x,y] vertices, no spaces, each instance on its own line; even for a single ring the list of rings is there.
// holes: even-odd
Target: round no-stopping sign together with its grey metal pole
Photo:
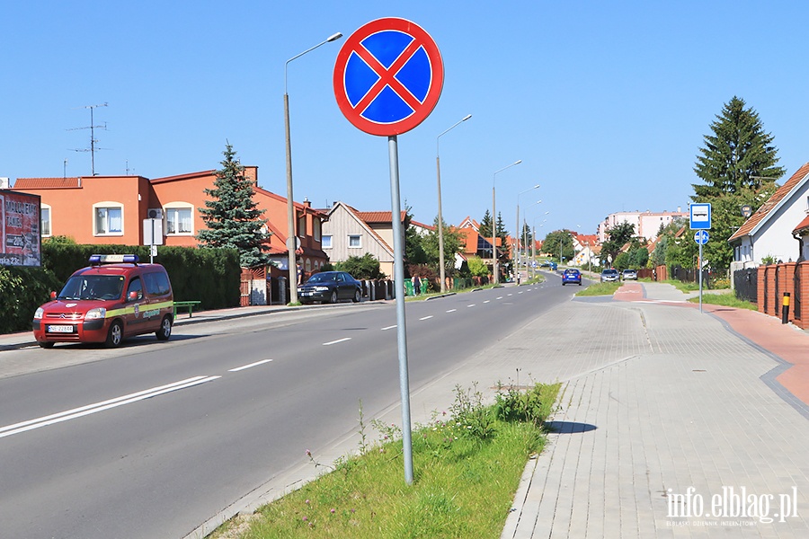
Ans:
[[[396,343],[402,397],[402,445],[405,482],[413,483],[413,429],[405,325],[405,231],[399,194],[396,136],[416,127],[438,102],[444,66],[435,41],[405,19],[371,21],[349,36],[334,63],[334,97],[355,128],[387,137],[390,208],[394,236]]]

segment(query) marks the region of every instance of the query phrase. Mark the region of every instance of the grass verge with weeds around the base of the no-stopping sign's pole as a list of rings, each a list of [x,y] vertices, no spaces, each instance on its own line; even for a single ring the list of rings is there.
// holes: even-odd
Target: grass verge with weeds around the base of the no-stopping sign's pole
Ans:
[[[378,443],[363,443],[360,455],[335,463],[332,473],[211,537],[499,537],[526,461],[544,446],[542,425],[560,386],[501,387],[487,407],[480,393],[456,388],[451,412],[413,431],[412,485],[405,484],[402,441],[385,440],[396,428],[375,423]],[[360,416],[360,434],[361,425]]]

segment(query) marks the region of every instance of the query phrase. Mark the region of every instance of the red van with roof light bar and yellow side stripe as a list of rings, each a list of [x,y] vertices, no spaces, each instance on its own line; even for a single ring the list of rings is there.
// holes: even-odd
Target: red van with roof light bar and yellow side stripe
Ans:
[[[57,342],[103,342],[114,348],[133,335],[172,335],[172,284],[160,264],[138,264],[135,254],[93,254],[61,292],[34,313],[33,334],[42,348]]]

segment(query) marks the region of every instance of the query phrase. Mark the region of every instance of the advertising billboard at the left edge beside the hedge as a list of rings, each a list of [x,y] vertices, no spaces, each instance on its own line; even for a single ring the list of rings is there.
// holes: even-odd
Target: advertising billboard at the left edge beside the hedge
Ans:
[[[0,266],[40,266],[40,197],[0,190]]]

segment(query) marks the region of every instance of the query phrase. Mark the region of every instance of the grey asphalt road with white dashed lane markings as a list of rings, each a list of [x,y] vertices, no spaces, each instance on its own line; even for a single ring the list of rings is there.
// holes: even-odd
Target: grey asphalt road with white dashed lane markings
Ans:
[[[554,276],[408,303],[411,391],[577,290]],[[0,536],[188,535],[355,432],[360,400],[367,421],[398,404],[395,326],[394,305],[341,305],[177,327],[113,351],[3,352],[49,368],[0,379]]]

